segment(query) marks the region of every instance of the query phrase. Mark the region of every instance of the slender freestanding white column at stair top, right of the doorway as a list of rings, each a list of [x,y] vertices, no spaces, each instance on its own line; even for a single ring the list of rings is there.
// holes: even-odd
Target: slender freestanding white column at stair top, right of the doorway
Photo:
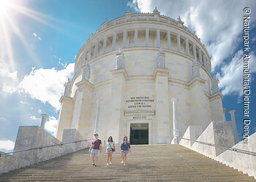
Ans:
[[[171,101],[173,102],[173,140],[171,144],[178,144],[179,138],[179,130],[178,130],[178,118],[177,118],[177,99],[172,98]]]

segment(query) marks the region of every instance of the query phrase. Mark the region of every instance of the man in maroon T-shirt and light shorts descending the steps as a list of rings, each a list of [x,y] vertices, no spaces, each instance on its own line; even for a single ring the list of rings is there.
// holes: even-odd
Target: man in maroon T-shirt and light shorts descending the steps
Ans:
[[[94,137],[94,141],[91,142],[89,153],[91,153],[93,167],[97,167],[99,154],[102,153],[102,141],[99,140],[99,135],[97,133],[94,133]]]

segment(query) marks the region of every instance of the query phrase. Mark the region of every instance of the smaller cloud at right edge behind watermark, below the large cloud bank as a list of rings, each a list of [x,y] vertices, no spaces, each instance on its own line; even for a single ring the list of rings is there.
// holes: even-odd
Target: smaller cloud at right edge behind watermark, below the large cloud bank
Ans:
[[[230,93],[243,94],[243,50],[239,50],[234,55],[233,59],[227,65],[221,68],[222,74],[217,74],[219,79],[219,88],[222,90],[223,95]],[[253,79],[252,73],[256,72],[256,56],[250,55],[249,68],[251,72],[251,80]]]

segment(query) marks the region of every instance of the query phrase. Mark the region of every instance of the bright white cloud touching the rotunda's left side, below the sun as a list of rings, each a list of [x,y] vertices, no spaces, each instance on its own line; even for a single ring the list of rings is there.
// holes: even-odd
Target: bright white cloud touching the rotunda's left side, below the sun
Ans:
[[[75,63],[69,63],[63,70],[35,69],[32,68],[29,75],[24,76],[20,82],[20,89],[29,93],[31,98],[50,103],[57,110],[60,107],[59,98],[64,92],[64,83],[72,76]]]

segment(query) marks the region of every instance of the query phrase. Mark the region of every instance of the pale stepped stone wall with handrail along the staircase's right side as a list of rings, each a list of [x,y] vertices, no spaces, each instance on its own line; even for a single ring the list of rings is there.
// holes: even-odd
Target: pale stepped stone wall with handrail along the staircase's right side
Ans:
[[[248,141],[235,145],[231,122],[211,122],[203,132],[189,126],[179,144],[256,178],[256,156],[246,152],[256,152],[256,133]]]

